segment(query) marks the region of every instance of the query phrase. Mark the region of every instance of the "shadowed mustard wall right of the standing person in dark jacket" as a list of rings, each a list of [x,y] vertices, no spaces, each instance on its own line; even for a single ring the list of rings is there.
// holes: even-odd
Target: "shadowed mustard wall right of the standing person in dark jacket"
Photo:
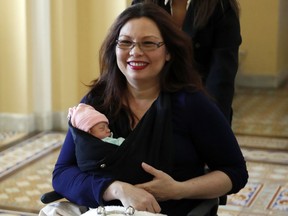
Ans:
[[[288,1],[239,2],[243,43],[238,83],[278,87],[288,76]]]

